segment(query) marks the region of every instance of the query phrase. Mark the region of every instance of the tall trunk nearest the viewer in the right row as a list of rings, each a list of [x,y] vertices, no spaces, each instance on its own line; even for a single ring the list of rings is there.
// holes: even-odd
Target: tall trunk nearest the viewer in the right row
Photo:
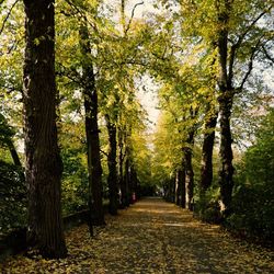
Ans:
[[[232,165],[232,138],[230,130],[230,115],[233,101],[232,73],[228,76],[228,23],[229,13],[231,12],[231,2],[226,0],[224,11],[219,11],[218,21],[220,31],[218,32],[218,64],[219,64],[219,123],[220,123],[220,210],[226,218],[231,213],[231,199],[233,189],[233,165]],[[232,69],[232,68],[230,68]]]

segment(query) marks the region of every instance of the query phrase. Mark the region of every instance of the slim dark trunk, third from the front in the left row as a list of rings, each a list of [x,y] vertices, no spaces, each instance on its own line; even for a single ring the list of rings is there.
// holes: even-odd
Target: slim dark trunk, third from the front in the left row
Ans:
[[[111,215],[117,215],[118,208],[118,176],[117,176],[117,163],[116,163],[116,126],[110,121],[110,116],[105,115],[106,127],[109,133],[110,149],[107,153],[107,167],[109,167],[109,192],[110,192],[110,207]]]

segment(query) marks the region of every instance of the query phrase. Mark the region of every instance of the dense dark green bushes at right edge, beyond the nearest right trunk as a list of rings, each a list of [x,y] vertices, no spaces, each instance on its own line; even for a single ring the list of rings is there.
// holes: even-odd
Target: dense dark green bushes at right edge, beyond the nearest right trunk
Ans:
[[[228,224],[243,233],[274,239],[274,109],[262,121],[256,144],[239,167],[233,214]]]

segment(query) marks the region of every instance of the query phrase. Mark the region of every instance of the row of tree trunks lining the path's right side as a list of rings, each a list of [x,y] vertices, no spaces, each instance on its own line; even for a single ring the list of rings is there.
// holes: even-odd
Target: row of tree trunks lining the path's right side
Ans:
[[[216,44],[218,48],[218,103],[219,103],[219,124],[220,124],[220,170],[219,170],[219,185],[220,185],[220,210],[222,217],[226,218],[231,214],[232,189],[233,189],[233,165],[232,165],[232,138],[230,128],[230,116],[232,110],[235,89],[232,87],[232,65],[230,60],[229,71],[228,65],[228,25],[229,14],[231,12],[231,1],[225,0],[224,5],[216,5],[219,22],[219,31],[217,32]],[[205,122],[205,135],[202,148],[202,169],[201,169],[201,196],[204,196],[209,189],[213,181],[213,148],[215,140],[215,128],[217,124],[218,113],[214,110],[215,106],[208,104],[207,112],[209,113]],[[183,178],[185,179],[185,207],[191,209],[191,199],[193,197],[193,169],[192,169],[192,147],[194,139],[192,132],[189,132],[189,140],[183,148],[184,169]],[[182,187],[182,186],[180,186]],[[180,187],[176,187],[180,190]],[[176,194],[179,195],[179,194]],[[176,203],[179,196],[176,196]]]

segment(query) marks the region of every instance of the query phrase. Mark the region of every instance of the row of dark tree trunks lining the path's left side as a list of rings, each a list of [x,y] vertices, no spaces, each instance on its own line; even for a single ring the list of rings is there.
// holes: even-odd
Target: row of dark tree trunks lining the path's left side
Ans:
[[[24,0],[26,47],[23,76],[26,184],[28,189],[28,244],[46,258],[67,254],[60,206],[62,162],[57,141],[55,81],[55,2]],[[89,171],[90,231],[93,225],[104,225],[102,167],[98,126],[98,92],[93,71],[87,20],[79,30],[82,54],[82,93],[85,111],[85,136]],[[110,152],[110,212],[117,214],[116,126],[107,121]],[[129,148],[124,164],[123,138],[119,139],[119,178],[122,204],[129,205],[132,191],[137,189],[137,174],[130,172]],[[21,165],[13,144],[10,151]],[[123,164],[125,173],[123,173]],[[124,175],[123,175],[124,174]],[[132,183],[135,182],[132,187]]]

